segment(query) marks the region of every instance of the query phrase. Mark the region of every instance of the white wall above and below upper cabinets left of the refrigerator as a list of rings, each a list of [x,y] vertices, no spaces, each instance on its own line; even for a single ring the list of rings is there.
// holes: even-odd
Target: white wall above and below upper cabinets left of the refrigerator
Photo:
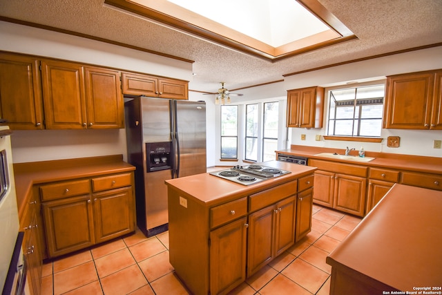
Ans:
[[[0,21],[0,40],[0,50],[192,79],[188,62],[15,23]],[[15,131],[11,143],[15,163],[116,154],[126,159],[124,129]]]

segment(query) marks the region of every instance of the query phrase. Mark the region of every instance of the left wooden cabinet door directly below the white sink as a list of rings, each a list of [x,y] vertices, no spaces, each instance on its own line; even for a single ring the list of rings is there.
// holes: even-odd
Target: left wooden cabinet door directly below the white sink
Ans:
[[[325,207],[333,207],[334,173],[317,170],[315,171],[314,183],[314,202]]]

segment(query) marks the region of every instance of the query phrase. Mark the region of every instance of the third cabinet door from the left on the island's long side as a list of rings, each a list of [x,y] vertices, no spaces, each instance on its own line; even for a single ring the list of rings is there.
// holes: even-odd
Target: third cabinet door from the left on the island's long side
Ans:
[[[276,216],[276,230],[273,257],[276,257],[295,243],[296,197],[291,196],[278,202],[274,213]]]

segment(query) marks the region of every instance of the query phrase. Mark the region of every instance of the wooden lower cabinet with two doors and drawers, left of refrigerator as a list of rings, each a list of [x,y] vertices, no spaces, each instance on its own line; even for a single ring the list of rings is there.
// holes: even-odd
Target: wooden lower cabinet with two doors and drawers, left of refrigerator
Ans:
[[[120,173],[41,185],[48,258],[133,232],[132,184],[133,173]]]

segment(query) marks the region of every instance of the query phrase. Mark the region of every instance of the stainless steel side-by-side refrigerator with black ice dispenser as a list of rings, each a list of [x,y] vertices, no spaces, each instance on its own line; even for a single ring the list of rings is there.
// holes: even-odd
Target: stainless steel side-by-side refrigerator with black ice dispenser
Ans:
[[[125,101],[137,225],[149,237],[169,229],[164,180],[206,173],[206,104],[145,96]]]

